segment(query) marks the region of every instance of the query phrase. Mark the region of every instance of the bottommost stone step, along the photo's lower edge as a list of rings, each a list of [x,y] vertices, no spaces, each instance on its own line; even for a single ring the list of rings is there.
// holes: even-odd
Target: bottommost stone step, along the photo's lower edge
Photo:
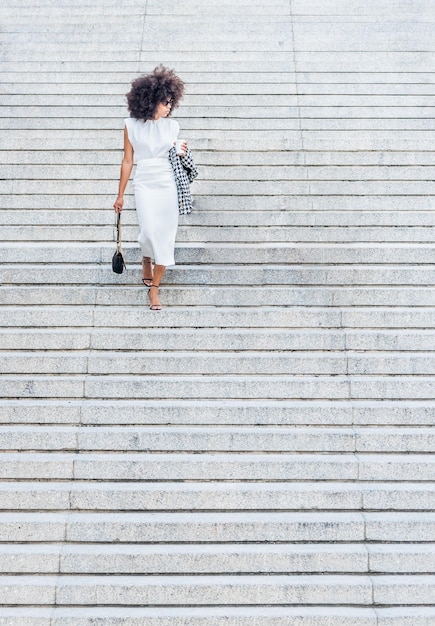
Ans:
[[[16,626],[25,620],[27,626],[92,626],[103,619],[107,626],[398,626],[418,624],[432,626],[430,607],[357,608],[357,607],[0,607],[5,626]]]

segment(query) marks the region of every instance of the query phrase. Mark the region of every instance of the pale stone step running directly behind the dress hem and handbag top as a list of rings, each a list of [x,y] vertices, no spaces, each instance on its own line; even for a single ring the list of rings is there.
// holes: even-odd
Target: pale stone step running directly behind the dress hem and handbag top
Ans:
[[[21,227],[23,228],[23,227]],[[85,227],[86,231],[89,227]],[[310,227],[311,228],[311,227]],[[19,227],[17,227],[17,230]],[[125,229],[124,229],[125,230]],[[249,265],[260,263],[264,264],[278,264],[278,263],[292,263],[292,264],[314,264],[320,263],[322,265],[360,265],[363,263],[370,264],[425,264],[435,262],[435,250],[432,244],[427,243],[415,243],[404,244],[396,242],[383,242],[380,244],[341,244],[341,243],[324,243],[319,242],[315,244],[301,244],[287,243],[287,242],[275,242],[275,244],[258,244],[254,242],[242,243],[243,227],[235,227],[235,233],[231,239],[235,239],[237,231],[241,231],[241,240],[238,244],[234,243],[222,243],[224,239],[223,233],[218,233],[222,239],[219,242],[213,242],[212,239],[217,239],[213,235],[205,235],[205,229],[186,229],[186,235],[194,237],[191,233],[192,230],[201,230],[203,240],[207,240],[207,243],[202,242],[182,242],[178,243],[175,254],[175,261],[178,264],[242,264]],[[252,234],[248,232],[246,238],[251,239],[253,236],[258,236],[257,231],[263,229],[261,227],[251,228]],[[271,234],[275,234],[276,230],[273,227],[269,229]],[[426,227],[428,237],[431,236],[431,228]],[[432,229],[432,237],[435,242],[435,227]],[[316,233],[319,228],[316,227]],[[44,231],[45,232],[45,228]],[[228,231],[227,231],[228,232]],[[245,231],[246,232],[246,231]],[[198,239],[201,235],[198,236]],[[282,236],[281,236],[282,237]],[[283,237],[282,237],[283,238]],[[312,237],[314,238],[314,237]],[[228,237],[230,239],[230,237]],[[82,263],[95,264],[95,263],[107,263],[110,264],[114,252],[113,243],[103,246],[95,246],[95,244],[89,243],[75,243],[71,242],[69,245],[59,244],[44,244],[42,242],[32,242],[30,245],[24,243],[5,243],[0,251],[0,260],[2,263],[8,263],[13,259],[14,264],[61,264],[61,263]],[[131,269],[131,263],[140,264],[142,260],[142,254],[140,249],[135,247],[131,248],[129,245],[124,246],[124,252],[127,257],[129,269]],[[140,265],[139,265],[140,267]],[[136,268],[137,269],[137,268]]]

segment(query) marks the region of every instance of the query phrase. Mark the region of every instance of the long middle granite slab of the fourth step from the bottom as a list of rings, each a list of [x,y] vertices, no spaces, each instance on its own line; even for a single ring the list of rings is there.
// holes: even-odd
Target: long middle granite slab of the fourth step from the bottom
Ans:
[[[385,514],[396,534],[417,537],[433,521],[429,514]],[[403,514],[402,514],[403,515]],[[369,514],[365,514],[368,519]],[[426,519],[424,519],[426,518]],[[379,514],[375,523],[379,523]],[[385,524],[387,526],[387,524]],[[192,543],[192,542],[357,542],[365,522],[359,513],[70,513],[70,542]],[[47,535],[46,535],[47,536]]]

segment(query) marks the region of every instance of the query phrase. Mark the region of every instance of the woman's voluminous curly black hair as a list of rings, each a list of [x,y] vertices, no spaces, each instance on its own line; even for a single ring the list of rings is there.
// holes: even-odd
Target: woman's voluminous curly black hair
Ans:
[[[158,65],[151,74],[139,76],[131,83],[127,94],[130,117],[138,120],[152,120],[160,102],[172,100],[176,108],[184,94],[184,83],[173,70]],[[169,115],[170,115],[169,113]]]

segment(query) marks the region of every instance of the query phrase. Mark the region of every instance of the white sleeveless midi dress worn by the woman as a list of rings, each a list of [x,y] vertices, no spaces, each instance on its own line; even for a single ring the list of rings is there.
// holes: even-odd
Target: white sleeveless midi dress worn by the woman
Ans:
[[[164,117],[146,122],[129,117],[125,127],[136,162],[133,185],[142,256],[157,265],[175,265],[178,197],[168,156],[180,127]]]

